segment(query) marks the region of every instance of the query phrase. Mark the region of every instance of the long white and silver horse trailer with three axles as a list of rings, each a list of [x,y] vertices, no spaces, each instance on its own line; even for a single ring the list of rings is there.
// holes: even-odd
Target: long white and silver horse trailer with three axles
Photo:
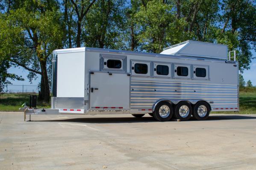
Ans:
[[[51,109],[32,114],[149,113],[205,120],[210,111],[239,111],[238,62],[227,46],[188,40],[160,54],[99,48],[53,51]]]

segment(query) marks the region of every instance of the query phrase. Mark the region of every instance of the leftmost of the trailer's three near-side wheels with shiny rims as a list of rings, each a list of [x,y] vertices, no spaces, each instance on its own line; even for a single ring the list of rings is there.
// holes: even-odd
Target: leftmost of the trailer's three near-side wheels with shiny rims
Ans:
[[[162,112],[160,111],[162,109]],[[157,104],[153,116],[157,121],[169,121],[173,116],[173,107],[166,101],[162,101]]]

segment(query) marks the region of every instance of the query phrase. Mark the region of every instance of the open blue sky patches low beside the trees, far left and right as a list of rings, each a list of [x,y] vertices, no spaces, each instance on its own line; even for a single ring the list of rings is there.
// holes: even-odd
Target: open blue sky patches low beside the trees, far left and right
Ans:
[[[253,56],[256,57],[256,52],[253,51]],[[35,81],[32,82],[32,84],[29,82],[28,78],[26,77],[28,75],[28,71],[26,69],[23,69],[22,67],[12,67],[8,69],[8,72],[14,73],[17,75],[21,75],[25,81],[11,81],[12,84],[15,85],[38,85],[40,82],[40,77],[38,77]],[[252,60],[250,63],[250,69],[249,70],[244,70],[244,73],[242,74],[244,77],[245,82],[248,80],[252,81],[253,85],[256,86],[256,59]],[[12,89],[21,89],[20,86],[15,87],[12,86]]]

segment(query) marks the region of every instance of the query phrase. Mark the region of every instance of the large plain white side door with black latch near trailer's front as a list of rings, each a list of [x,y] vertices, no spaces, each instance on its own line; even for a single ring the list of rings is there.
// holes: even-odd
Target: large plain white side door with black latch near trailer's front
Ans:
[[[124,73],[94,72],[90,74],[90,109],[129,109],[130,76]]]

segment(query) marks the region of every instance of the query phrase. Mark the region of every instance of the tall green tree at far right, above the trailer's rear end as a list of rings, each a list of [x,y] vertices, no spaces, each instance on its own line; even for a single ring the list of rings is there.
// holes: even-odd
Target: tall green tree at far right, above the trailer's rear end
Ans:
[[[251,50],[256,50],[256,1],[255,0],[223,0],[223,14],[220,21],[218,42],[228,44],[229,49],[238,52],[239,69],[250,68],[253,58]],[[222,34],[222,35],[221,35]]]

